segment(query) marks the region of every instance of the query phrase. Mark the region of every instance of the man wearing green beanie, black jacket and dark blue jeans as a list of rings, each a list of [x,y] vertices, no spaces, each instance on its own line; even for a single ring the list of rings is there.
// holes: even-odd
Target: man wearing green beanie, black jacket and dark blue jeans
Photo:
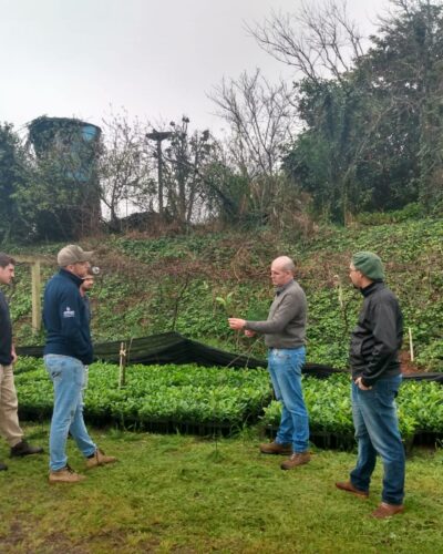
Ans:
[[[379,454],[384,470],[382,502],[372,515],[384,519],[404,511],[404,449],[394,400],[402,380],[398,355],[403,316],[396,297],[383,283],[383,264],[377,254],[354,254],[350,279],[364,298],[350,346],[352,417],[359,450],[349,481],[336,486],[367,499]]]

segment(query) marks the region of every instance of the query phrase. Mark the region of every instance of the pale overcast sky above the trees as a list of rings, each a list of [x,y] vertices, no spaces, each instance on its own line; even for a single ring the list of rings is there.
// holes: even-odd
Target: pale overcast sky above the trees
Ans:
[[[312,1],[312,0],[308,0]],[[206,94],[223,76],[287,68],[245,24],[300,0],[0,0],[0,122],[20,130],[40,115],[101,124],[124,106],[142,121],[179,120],[217,134]],[[348,0],[364,31],[388,0]]]

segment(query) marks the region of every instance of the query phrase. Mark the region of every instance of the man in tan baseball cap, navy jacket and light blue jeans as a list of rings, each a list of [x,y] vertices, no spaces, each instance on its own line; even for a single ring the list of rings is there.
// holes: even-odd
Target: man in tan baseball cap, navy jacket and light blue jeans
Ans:
[[[93,360],[90,321],[80,286],[87,275],[92,252],[69,245],[58,254],[60,270],[48,283],[43,300],[47,329],[44,365],[54,387],[50,431],[50,483],[76,483],[65,453],[68,433],[86,458],[86,469],[115,462],[92,441],[83,420],[84,366]]]

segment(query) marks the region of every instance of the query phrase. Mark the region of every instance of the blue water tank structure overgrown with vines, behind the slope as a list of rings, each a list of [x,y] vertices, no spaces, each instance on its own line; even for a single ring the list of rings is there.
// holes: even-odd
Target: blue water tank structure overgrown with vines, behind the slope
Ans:
[[[56,214],[42,214],[39,235],[53,238],[62,234],[68,239],[96,230],[101,219],[96,171],[101,129],[76,119],[45,115],[28,129],[42,178],[65,192],[65,203],[60,203]]]

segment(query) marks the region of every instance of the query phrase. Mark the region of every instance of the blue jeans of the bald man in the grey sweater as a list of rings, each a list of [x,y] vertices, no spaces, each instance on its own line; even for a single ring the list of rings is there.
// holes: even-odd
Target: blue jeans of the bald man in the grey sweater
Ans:
[[[291,443],[293,452],[306,452],[309,445],[309,418],[301,390],[301,367],[305,357],[305,347],[271,348],[268,353],[274,391],[282,404],[276,442]]]

